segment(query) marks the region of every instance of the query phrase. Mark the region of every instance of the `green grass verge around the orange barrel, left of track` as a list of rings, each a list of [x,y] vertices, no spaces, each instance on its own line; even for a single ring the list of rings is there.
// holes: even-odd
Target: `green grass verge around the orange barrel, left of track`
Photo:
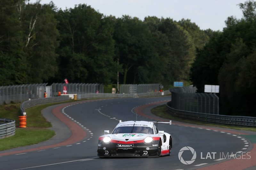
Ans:
[[[20,146],[38,144],[52,138],[55,135],[55,132],[47,129],[52,127],[52,124],[44,118],[44,116],[41,114],[41,110],[52,105],[70,103],[70,101],[74,102],[74,100],[68,100],[59,103],[39,105],[26,109],[27,128],[19,128],[21,103],[1,105],[0,118],[15,120],[16,130],[15,135],[0,139],[0,151],[17,148]]]

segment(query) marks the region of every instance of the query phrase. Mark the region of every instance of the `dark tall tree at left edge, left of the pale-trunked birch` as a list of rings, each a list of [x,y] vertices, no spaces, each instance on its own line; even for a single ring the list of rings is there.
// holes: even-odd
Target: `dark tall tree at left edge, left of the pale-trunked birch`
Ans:
[[[0,85],[28,82],[27,65],[23,64],[24,52],[20,37],[18,0],[0,0]]]

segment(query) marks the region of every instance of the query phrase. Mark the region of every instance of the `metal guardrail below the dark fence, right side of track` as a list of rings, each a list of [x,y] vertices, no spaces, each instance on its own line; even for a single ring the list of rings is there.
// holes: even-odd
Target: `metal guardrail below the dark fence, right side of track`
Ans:
[[[247,126],[247,127],[256,127],[256,117],[247,117],[247,116],[228,116],[228,115],[215,115],[215,114],[206,114],[206,113],[197,113],[197,112],[188,112],[183,110],[177,110],[171,107],[172,101],[166,104],[167,113],[182,117],[197,120],[200,122],[213,122],[220,124],[229,124],[235,126]]]

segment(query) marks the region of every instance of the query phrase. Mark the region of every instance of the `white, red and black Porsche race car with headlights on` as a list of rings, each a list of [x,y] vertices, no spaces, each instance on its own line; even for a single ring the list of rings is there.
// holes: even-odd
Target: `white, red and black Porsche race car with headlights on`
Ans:
[[[156,123],[156,124],[155,124]],[[98,157],[160,157],[171,154],[172,136],[157,129],[157,123],[125,121],[116,125],[111,134],[105,130],[99,137]]]

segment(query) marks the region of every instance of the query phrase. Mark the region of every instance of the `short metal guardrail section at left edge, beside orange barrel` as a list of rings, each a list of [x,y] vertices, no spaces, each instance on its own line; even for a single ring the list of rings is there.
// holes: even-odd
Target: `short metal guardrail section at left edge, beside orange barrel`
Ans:
[[[15,120],[0,118],[0,139],[15,135]]]

